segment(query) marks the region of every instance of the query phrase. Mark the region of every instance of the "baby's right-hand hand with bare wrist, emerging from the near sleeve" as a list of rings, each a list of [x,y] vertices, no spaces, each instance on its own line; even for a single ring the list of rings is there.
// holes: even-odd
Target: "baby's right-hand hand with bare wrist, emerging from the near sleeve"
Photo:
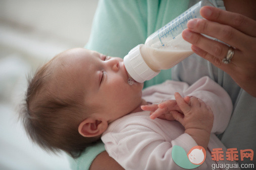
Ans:
[[[184,126],[185,133],[189,134],[198,145],[207,148],[213,128],[213,111],[196,97],[190,97],[190,101],[187,102],[179,93],[175,93],[175,98],[183,114],[173,112],[173,117]]]

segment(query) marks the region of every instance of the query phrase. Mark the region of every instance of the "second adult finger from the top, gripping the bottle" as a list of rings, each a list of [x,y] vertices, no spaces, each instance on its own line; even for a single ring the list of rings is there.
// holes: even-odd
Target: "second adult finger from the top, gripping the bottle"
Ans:
[[[209,35],[241,50],[247,48],[241,39],[251,41],[252,38],[231,26],[204,19],[189,20],[187,27],[193,32]]]

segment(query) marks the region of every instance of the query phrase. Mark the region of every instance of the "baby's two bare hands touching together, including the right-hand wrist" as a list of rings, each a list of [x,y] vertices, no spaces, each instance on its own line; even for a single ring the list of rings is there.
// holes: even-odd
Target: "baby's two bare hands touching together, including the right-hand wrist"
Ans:
[[[169,121],[177,120],[195,142],[207,148],[210,133],[213,128],[214,116],[210,107],[196,97],[181,97],[175,93],[176,100],[167,100],[157,105],[141,106],[143,110],[151,111],[150,118],[160,118]]]

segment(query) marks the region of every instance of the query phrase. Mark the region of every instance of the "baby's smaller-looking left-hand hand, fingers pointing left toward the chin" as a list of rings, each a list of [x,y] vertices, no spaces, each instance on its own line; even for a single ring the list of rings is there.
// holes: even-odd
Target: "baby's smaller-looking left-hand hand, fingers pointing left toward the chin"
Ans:
[[[142,105],[141,109],[151,111],[150,119],[160,118],[168,121],[175,121],[172,112],[181,111],[176,100],[167,100],[161,104]]]

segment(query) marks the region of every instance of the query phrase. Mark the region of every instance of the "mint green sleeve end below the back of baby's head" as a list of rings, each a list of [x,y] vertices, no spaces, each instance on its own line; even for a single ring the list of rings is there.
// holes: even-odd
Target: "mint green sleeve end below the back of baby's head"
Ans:
[[[95,145],[87,147],[82,153],[81,156],[74,159],[69,158],[70,168],[72,170],[84,170],[89,169],[93,159],[101,152],[105,151],[104,143],[98,142]]]

